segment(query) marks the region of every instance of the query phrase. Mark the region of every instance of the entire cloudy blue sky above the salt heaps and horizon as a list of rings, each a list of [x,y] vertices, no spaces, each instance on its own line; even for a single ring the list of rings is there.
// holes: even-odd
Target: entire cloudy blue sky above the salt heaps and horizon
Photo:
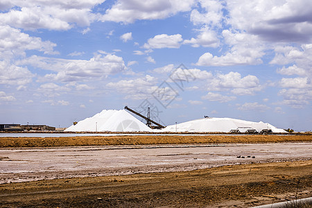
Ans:
[[[31,0],[0,10],[0,123],[68,127],[148,103],[165,125],[207,115],[312,129],[311,1]]]

